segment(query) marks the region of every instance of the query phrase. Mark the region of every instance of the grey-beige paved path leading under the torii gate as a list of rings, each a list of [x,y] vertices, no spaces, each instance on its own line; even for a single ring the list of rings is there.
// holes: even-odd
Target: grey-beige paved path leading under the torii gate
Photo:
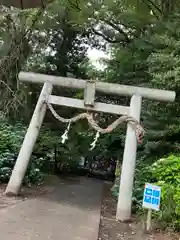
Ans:
[[[6,240],[97,240],[103,182],[77,177],[62,180],[50,194],[11,199],[0,211],[1,238]],[[26,195],[26,194],[25,194]],[[13,205],[13,206],[10,206]]]

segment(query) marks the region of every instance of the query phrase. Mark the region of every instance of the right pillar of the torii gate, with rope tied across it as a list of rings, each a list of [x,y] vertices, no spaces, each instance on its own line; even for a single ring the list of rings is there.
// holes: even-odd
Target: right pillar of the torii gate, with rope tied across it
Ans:
[[[140,121],[142,98],[133,95],[130,102],[130,116]],[[116,219],[128,220],[131,216],[133,180],[136,164],[137,138],[134,129],[130,124],[127,126],[126,140],[124,147],[121,180],[117,203]]]

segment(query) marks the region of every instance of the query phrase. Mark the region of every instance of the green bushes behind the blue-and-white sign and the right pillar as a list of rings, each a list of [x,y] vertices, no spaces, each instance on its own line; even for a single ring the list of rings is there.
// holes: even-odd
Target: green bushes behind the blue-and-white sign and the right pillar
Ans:
[[[119,194],[118,174],[111,191],[117,199]],[[162,228],[180,229],[180,155],[170,155],[159,159],[151,166],[142,159],[137,162],[133,189],[133,211],[142,213],[142,200],[145,183],[161,186],[160,211],[153,217]]]

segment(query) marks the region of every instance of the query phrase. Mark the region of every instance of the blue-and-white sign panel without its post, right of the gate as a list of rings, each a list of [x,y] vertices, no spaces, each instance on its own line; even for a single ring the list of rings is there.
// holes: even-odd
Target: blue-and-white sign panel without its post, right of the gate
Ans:
[[[161,188],[149,183],[145,184],[143,207],[158,211],[160,208]]]

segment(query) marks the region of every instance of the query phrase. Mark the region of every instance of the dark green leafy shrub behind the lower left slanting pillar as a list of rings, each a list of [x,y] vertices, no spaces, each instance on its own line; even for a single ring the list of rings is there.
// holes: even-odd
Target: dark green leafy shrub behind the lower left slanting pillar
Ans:
[[[26,127],[20,123],[12,126],[10,124],[0,122],[0,181],[8,182],[15,161],[21,147]],[[32,156],[24,183],[41,183],[43,175],[40,171],[43,158]]]

